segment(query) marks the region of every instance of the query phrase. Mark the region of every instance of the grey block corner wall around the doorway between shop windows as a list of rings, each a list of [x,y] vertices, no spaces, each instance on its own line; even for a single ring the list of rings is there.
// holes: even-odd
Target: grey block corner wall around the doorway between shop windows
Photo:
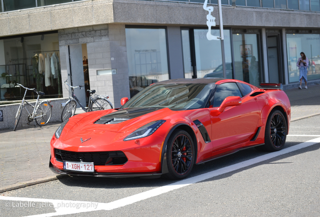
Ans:
[[[114,107],[120,107],[120,99],[129,97],[128,60],[126,52],[125,25],[105,24],[78,27],[58,31],[61,60],[61,79],[69,74],[67,46],[87,44],[90,89],[96,94],[109,95]],[[98,70],[116,69],[117,74],[98,75]],[[72,76],[76,76],[73,72]],[[63,97],[69,92],[63,87]]]

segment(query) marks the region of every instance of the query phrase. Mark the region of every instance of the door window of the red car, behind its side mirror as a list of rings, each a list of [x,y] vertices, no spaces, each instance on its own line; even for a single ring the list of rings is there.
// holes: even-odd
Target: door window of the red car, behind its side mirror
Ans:
[[[220,84],[214,93],[213,107],[219,107],[222,101],[228,96],[240,96],[242,94],[236,83]]]

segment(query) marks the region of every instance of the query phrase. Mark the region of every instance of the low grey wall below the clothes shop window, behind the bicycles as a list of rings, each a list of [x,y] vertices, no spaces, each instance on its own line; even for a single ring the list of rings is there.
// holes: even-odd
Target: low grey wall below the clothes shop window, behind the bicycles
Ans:
[[[61,113],[63,110],[62,103],[65,103],[68,99],[67,98],[56,98],[56,99],[49,99],[51,100],[50,104],[52,105],[52,116],[49,121],[51,122],[61,122]],[[29,101],[29,100],[28,100]],[[32,102],[30,100],[29,102]],[[33,101],[34,104],[35,101]],[[4,121],[0,122],[0,130],[2,129],[13,129],[14,123],[15,123],[15,117],[19,108],[20,103],[13,103],[13,104],[2,104],[0,105],[0,110],[3,111],[3,117]],[[33,112],[33,108],[29,105],[26,105],[28,107],[29,113]],[[21,127],[28,126],[28,113],[25,109],[22,110],[21,118],[17,127],[17,130]],[[34,126],[34,122],[31,122],[31,125]],[[37,127],[39,127],[37,125]]]

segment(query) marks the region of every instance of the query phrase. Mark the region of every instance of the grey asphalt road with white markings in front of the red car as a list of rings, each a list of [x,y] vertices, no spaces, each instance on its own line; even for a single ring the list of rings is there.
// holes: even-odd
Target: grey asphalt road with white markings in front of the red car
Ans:
[[[5,192],[0,215],[320,216],[318,123],[292,122],[280,152],[239,151],[182,181],[65,177]]]

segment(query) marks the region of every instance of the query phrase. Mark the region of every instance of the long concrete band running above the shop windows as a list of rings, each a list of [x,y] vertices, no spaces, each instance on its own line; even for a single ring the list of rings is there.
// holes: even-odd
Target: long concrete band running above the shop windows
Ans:
[[[134,0],[93,0],[0,13],[0,37],[50,30],[122,23],[203,25],[203,4]],[[217,6],[212,15],[219,25]],[[224,26],[320,28],[320,13],[244,8],[222,9]]]

